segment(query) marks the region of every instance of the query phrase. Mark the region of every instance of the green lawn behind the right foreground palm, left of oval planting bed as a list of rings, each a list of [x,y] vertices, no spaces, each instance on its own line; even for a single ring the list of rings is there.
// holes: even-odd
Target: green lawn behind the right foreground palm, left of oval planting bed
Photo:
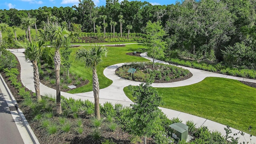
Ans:
[[[76,73],[78,76],[85,77],[86,79],[90,80],[90,83],[86,86],[76,88],[74,90],[70,90],[69,93],[75,94],[75,93],[81,93],[81,92],[89,92],[92,91],[92,70],[90,68],[85,68],[85,65],[83,62],[76,61],[74,59],[74,56],[76,54],[76,51],[80,48],[90,48],[90,46],[80,46],[78,48],[71,48],[71,59],[72,59],[72,66],[70,68],[70,72]],[[143,61],[149,61],[142,57],[136,57],[136,56],[129,56],[126,53],[133,52],[138,50],[138,48],[145,48],[144,44],[129,44],[125,47],[110,47],[108,46],[108,54],[107,57],[104,58],[103,63],[98,66],[97,74],[100,82],[100,88],[106,88],[112,84],[112,80],[109,80],[106,78],[103,74],[103,70],[111,66],[113,64],[123,63],[123,62],[143,62]]]

